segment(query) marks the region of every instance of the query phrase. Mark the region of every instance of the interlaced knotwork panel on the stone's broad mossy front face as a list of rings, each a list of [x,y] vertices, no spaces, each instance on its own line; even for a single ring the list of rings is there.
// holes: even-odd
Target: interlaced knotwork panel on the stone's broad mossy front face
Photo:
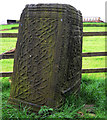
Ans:
[[[20,49],[16,51],[15,75],[18,77],[14,76],[17,78],[13,92],[15,98],[30,98],[30,102],[45,104],[44,94],[48,93],[44,93],[46,90],[43,89],[48,88],[48,80],[52,76],[55,45],[52,36],[57,33],[56,22],[56,19],[33,18],[29,19],[28,23],[27,20],[21,23],[20,41],[17,43]]]

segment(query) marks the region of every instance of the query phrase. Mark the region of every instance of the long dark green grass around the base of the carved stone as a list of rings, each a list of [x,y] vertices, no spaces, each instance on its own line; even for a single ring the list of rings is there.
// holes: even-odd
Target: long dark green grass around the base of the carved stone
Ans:
[[[67,96],[66,102],[60,109],[51,109],[51,114],[47,107],[42,107],[38,114],[28,112],[29,108],[20,105],[21,109],[16,109],[14,106],[8,104],[8,97],[10,93],[9,78],[2,78],[2,117],[7,118],[105,118],[105,82],[103,77],[89,76],[86,74],[82,76],[81,91],[78,99],[74,96]],[[91,113],[87,112],[85,105],[94,105],[91,108]],[[80,116],[79,113],[82,113]],[[94,115],[94,116],[93,116]]]

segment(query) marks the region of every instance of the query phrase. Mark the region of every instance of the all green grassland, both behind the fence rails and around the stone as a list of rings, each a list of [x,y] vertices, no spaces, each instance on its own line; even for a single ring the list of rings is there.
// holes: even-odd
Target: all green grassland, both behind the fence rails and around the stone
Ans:
[[[86,24],[86,23],[84,23]],[[90,23],[92,24],[92,23]],[[97,23],[98,24],[98,23]],[[103,23],[101,23],[103,24]],[[15,25],[4,25],[2,29],[10,29],[11,27],[18,27]],[[84,32],[98,32],[105,31],[105,27],[84,27]],[[18,32],[18,30],[5,30],[3,32]],[[10,49],[15,48],[16,38],[0,38],[0,54]],[[104,36],[83,37],[83,52],[104,52],[106,40]],[[82,68],[104,68],[105,57],[84,57],[82,59]],[[2,65],[2,72],[13,71],[13,60],[0,60]],[[81,92],[78,100],[74,96],[69,96],[66,99],[65,105],[60,110],[53,110],[51,108],[41,108],[38,115],[28,113],[28,109],[21,107],[21,110],[13,109],[7,104],[10,92],[11,78],[2,78],[2,117],[6,118],[106,118],[105,114],[105,80],[107,80],[105,73],[82,74]],[[86,108],[89,105],[89,111]],[[49,115],[49,110],[52,114]],[[15,112],[17,111],[17,112]],[[43,113],[44,112],[44,113]]]

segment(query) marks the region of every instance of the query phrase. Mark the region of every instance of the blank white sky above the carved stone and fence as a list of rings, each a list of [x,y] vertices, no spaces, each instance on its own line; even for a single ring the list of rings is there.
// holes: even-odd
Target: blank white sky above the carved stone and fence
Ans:
[[[26,4],[38,3],[70,4],[80,10],[83,17],[101,17],[105,21],[105,2],[106,0],[0,0],[0,24],[6,24],[7,19],[19,20]]]

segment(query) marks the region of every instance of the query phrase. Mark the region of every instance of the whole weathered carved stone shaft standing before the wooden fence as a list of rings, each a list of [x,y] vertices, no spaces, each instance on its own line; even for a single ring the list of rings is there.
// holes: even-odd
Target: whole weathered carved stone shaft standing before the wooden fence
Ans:
[[[20,18],[9,102],[58,107],[81,83],[82,15],[65,4],[27,5]],[[35,109],[36,108],[36,109]]]

